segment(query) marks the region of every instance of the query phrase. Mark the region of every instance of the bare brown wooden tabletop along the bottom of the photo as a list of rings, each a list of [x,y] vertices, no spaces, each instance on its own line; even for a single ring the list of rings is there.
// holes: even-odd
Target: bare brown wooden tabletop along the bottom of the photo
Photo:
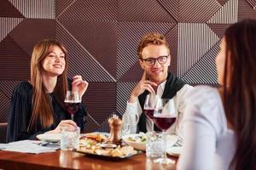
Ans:
[[[172,157],[177,161],[176,157]],[[110,161],[85,156],[73,151],[57,150],[44,154],[25,154],[0,150],[0,169],[93,169],[93,170],[153,170],[176,169],[176,164],[160,165],[145,153],[125,160]]]

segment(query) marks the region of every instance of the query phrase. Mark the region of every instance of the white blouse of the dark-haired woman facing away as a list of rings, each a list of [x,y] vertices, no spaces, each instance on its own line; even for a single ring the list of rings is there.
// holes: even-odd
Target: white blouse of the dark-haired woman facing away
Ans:
[[[188,102],[177,169],[229,169],[236,152],[236,133],[227,126],[218,89],[197,87],[189,94]]]

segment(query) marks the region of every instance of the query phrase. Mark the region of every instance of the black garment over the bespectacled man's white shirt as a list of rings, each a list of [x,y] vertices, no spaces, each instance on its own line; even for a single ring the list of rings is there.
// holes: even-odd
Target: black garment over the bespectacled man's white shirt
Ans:
[[[172,99],[176,94],[177,91],[183,88],[183,86],[186,84],[186,82],[183,82],[183,80],[179,79],[175,75],[173,75],[171,72],[168,72],[167,80],[166,80],[166,86],[162,95],[162,99]],[[148,94],[148,91],[145,90],[145,92],[138,96],[140,105],[143,109],[146,96]],[[146,127],[146,116],[145,114],[142,114],[140,116],[139,122],[137,123],[137,128],[139,132],[146,133],[147,127]],[[155,131],[160,131],[160,129],[156,126],[154,126]]]

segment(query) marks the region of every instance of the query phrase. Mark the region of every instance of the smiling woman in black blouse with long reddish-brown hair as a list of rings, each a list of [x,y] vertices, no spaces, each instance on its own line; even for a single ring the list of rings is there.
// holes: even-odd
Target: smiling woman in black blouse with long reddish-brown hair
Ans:
[[[9,113],[7,141],[35,139],[40,133],[61,133],[61,127],[84,129],[84,105],[74,122],[64,106],[67,90],[75,88],[83,96],[88,82],[81,76],[67,79],[67,50],[54,40],[38,42],[32,51],[31,80],[15,88]]]

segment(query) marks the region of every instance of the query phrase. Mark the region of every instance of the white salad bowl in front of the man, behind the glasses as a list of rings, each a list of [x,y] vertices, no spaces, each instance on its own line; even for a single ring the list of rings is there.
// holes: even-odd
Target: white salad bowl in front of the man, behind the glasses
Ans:
[[[144,134],[146,135],[146,134]],[[129,137],[135,138],[137,136],[142,136],[142,134],[129,134],[123,136],[123,140],[126,144],[131,145],[136,150],[146,150],[146,142],[133,142],[131,140],[128,140]],[[177,142],[177,136],[175,135],[167,135],[167,141],[166,141],[166,149],[171,148],[173,144]]]

